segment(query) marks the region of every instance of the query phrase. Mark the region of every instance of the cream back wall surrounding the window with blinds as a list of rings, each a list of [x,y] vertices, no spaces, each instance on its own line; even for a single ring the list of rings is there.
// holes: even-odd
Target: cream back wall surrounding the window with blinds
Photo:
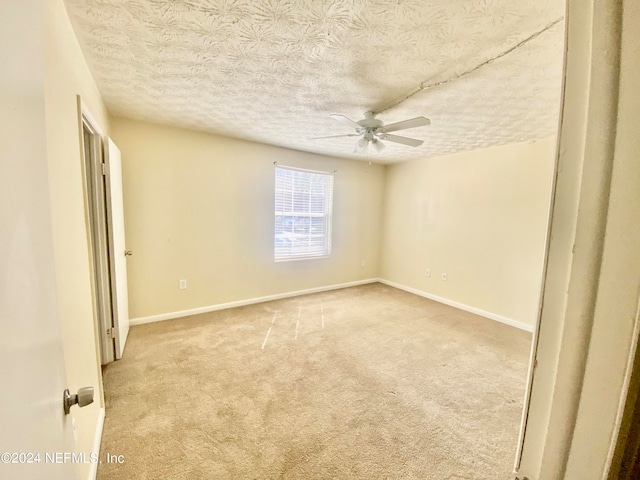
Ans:
[[[131,318],[377,276],[384,167],[121,118],[112,128]],[[337,170],[331,258],[273,261],[276,161]]]

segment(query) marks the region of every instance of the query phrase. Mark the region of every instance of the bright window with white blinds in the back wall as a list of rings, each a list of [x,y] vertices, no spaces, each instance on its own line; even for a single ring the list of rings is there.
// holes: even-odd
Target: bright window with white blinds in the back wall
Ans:
[[[276,261],[331,254],[332,203],[332,173],[276,167]]]

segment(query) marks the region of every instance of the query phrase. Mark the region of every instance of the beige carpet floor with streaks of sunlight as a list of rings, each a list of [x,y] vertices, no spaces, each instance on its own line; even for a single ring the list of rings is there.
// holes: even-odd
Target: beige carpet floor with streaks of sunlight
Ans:
[[[98,479],[513,478],[530,342],[382,284],[136,326]]]

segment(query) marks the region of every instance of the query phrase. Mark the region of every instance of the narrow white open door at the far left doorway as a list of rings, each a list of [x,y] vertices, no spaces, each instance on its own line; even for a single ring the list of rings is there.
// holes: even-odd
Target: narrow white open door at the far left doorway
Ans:
[[[122,358],[129,334],[129,297],[127,294],[127,251],[124,238],[124,203],[122,200],[122,162],[120,150],[108,138],[105,148],[107,182],[107,221],[109,223],[109,261],[113,334],[116,358]]]

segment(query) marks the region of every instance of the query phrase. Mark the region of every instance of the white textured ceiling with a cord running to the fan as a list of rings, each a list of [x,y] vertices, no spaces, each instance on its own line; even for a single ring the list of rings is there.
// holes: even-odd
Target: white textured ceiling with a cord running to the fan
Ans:
[[[118,116],[380,163],[544,138],[558,124],[561,0],[66,5]],[[394,132],[422,146],[380,153],[354,154],[353,137],[312,140],[352,132],[329,114],[367,110],[432,124]]]

